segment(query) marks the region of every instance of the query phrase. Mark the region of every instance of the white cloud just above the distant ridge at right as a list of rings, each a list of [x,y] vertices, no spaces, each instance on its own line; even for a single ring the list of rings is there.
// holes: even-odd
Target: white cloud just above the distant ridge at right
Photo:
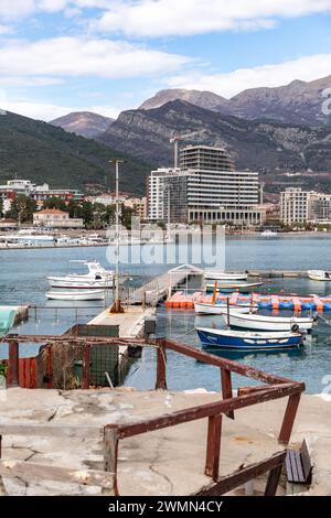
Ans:
[[[281,86],[295,79],[310,82],[330,73],[331,54],[316,54],[226,74],[189,73],[171,77],[167,83],[172,88],[210,90],[229,98],[247,88]]]

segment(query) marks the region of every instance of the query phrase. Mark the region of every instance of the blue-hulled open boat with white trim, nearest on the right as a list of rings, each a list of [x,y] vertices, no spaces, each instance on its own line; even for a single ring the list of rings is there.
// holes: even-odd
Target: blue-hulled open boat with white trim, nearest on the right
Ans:
[[[298,347],[303,336],[298,332],[257,333],[252,331],[210,330],[196,327],[204,346],[224,347],[241,350],[273,350]]]

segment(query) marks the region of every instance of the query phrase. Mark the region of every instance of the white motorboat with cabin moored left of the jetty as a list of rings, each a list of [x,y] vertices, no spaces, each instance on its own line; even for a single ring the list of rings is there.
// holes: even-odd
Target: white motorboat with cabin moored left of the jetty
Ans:
[[[65,277],[47,277],[52,288],[66,289],[98,289],[110,288],[114,280],[114,271],[105,270],[97,261],[71,261],[81,262],[88,268],[88,273],[74,273]]]

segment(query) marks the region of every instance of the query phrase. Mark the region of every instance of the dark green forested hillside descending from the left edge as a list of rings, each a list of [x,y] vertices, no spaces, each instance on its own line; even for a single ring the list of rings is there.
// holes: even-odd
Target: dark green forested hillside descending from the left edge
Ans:
[[[124,158],[120,190],[145,193],[150,166],[94,140],[67,133],[43,121],[7,112],[0,116],[0,183],[18,177],[52,187],[84,190],[88,183],[114,187],[114,165]]]

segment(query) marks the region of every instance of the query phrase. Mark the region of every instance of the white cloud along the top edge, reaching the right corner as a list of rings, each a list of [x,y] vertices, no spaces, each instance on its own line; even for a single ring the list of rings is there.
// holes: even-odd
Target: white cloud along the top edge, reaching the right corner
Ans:
[[[181,36],[266,29],[279,18],[330,10],[331,0],[119,0],[92,26],[128,36]]]

